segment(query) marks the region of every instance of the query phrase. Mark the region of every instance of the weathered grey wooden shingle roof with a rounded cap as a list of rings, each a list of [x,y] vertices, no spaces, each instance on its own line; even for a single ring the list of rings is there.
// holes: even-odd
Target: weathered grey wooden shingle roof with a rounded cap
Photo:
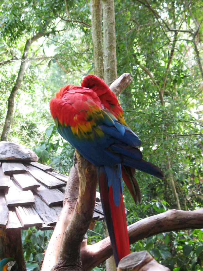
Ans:
[[[37,160],[22,145],[0,142],[0,227],[48,230],[57,223],[68,177]],[[93,220],[103,218],[97,193]]]

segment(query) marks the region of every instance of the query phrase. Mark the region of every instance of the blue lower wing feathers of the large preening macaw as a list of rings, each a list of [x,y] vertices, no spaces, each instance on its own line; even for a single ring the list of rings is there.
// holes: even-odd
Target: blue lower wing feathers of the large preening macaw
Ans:
[[[60,125],[58,132],[95,166],[116,166],[123,163],[162,179],[162,171],[142,159],[141,151],[136,148],[141,145],[138,136],[129,127],[112,119],[110,114],[102,114],[103,123],[92,127],[91,135],[83,135],[80,131],[75,135],[70,126]],[[118,191],[117,186],[115,189]]]

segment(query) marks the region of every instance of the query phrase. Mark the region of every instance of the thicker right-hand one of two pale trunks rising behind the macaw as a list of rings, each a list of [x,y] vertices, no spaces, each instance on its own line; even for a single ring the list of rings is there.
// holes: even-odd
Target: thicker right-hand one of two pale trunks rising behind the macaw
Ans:
[[[110,85],[117,78],[114,0],[102,0],[104,28],[104,81]]]

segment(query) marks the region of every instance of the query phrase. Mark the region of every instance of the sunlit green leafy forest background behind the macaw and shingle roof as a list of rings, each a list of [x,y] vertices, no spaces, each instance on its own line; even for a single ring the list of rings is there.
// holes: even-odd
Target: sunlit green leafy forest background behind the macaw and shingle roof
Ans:
[[[1,140],[34,150],[67,174],[74,149],[57,133],[49,101],[62,86],[94,73],[88,1],[0,1]],[[66,4],[66,5],[65,5]],[[117,74],[132,83],[120,96],[143,157],[163,181],[136,172],[142,203],[124,186],[127,224],[168,209],[202,208],[202,1],[115,0]],[[6,124],[6,125],[5,125]],[[40,270],[49,231],[22,231],[28,270]],[[94,243],[102,222],[88,230]],[[131,245],[174,271],[202,270],[202,230],[158,234]],[[105,263],[95,270],[105,270]]]

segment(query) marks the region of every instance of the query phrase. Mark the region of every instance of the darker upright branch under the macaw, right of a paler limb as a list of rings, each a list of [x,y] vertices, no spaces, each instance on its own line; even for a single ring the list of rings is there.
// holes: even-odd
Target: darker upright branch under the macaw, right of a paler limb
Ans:
[[[73,217],[64,233],[57,264],[51,269],[52,271],[82,271],[80,246],[94,212],[97,170],[93,164],[84,159],[77,151],[76,156],[80,179],[78,199],[74,208]]]

